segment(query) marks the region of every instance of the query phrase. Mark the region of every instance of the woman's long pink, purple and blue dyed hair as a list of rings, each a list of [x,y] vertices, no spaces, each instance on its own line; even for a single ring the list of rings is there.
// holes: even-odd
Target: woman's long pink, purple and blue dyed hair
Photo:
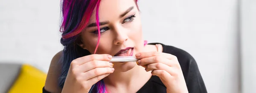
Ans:
[[[137,5],[137,0],[134,0]],[[96,7],[96,24],[98,28],[97,51],[100,39],[99,30],[99,4],[100,0],[62,0],[62,24],[60,32],[62,33],[61,44],[64,46],[63,56],[60,60],[62,64],[61,76],[59,77],[59,87],[63,88],[71,61],[76,58],[90,55],[88,50],[78,46],[80,33],[87,26],[90,17]],[[138,7],[138,6],[137,6]],[[81,43],[81,42],[80,42]],[[96,87],[95,87],[96,86]],[[94,84],[89,93],[107,93],[103,80]]]

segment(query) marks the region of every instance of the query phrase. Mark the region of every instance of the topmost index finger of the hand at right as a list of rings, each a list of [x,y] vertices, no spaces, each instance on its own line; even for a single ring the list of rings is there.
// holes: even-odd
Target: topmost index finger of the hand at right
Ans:
[[[167,59],[177,59],[175,55],[164,53],[164,52],[140,52],[140,53],[137,53],[135,56],[137,59],[148,58],[152,56],[163,56]]]

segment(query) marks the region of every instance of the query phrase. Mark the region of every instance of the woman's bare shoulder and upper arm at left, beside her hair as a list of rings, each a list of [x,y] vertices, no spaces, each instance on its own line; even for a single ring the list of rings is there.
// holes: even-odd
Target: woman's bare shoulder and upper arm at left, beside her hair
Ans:
[[[61,88],[58,87],[58,77],[61,75],[61,64],[59,60],[62,57],[62,51],[58,52],[52,58],[44,89],[51,93],[61,93]]]

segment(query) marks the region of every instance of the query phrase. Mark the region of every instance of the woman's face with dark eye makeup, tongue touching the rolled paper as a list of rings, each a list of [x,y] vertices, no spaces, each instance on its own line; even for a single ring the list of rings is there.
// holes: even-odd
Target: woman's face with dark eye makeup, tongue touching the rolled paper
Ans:
[[[90,17],[88,26],[81,33],[81,47],[93,53],[98,31],[96,26],[96,8]],[[143,51],[143,37],[140,13],[134,0],[101,0],[99,6],[100,42],[97,54],[112,56],[131,55]],[[127,52],[116,55],[121,49]],[[136,62],[113,63],[115,71],[131,70]]]

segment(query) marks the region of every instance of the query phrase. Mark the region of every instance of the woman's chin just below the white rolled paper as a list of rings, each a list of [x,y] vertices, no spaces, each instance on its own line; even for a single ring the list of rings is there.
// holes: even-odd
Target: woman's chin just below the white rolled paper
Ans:
[[[135,66],[136,66],[136,62],[125,62],[125,63],[118,63],[114,66],[115,68],[115,71],[118,71],[118,72],[127,72],[131,69],[133,69]]]

